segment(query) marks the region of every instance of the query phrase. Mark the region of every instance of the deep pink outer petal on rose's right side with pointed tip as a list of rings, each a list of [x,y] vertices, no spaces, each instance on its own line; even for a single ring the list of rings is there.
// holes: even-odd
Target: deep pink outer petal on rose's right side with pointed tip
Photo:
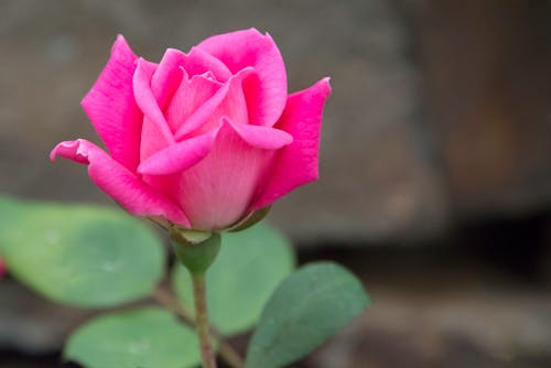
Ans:
[[[289,96],[276,127],[293,136],[293,143],[280,151],[269,184],[251,210],[266,207],[295,187],[317,180],[323,105],[329,94],[329,79],[324,78]]]

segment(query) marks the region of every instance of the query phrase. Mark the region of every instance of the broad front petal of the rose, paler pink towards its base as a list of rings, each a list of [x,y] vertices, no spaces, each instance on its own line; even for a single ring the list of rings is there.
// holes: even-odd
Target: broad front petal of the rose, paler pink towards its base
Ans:
[[[241,219],[263,187],[276,151],[251,147],[227,120],[208,155],[176,178],[174,197],[196,229],[220,229]]]

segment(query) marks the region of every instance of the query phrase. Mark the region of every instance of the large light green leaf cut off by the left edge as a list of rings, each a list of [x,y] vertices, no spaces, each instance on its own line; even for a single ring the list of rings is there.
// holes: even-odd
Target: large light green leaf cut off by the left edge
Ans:
[[[152,230],[121,210],[6,198],[0,253],[10,273],[43,296],[86,307],[149,295],[165,257]]]

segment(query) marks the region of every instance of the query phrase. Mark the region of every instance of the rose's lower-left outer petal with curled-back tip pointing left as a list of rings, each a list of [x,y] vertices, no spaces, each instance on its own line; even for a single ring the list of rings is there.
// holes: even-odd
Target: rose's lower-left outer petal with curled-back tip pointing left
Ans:
[[[138,216],[164,216],[174,224],[190,227],[190,220],[180,207],[140,181],[94,143],[83,139],[61,142],[52,150],[50,158],[54,161],[57,155],[88,164],[90,178],[129,213]]]

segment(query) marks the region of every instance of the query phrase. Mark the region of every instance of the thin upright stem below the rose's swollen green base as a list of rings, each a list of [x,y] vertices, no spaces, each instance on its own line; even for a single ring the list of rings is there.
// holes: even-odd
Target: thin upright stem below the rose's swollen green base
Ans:
[[[199,338],[203,368],[216,368],[208,326],[205,272],[192,272],[192,282],[195,301],[195,329]]]

